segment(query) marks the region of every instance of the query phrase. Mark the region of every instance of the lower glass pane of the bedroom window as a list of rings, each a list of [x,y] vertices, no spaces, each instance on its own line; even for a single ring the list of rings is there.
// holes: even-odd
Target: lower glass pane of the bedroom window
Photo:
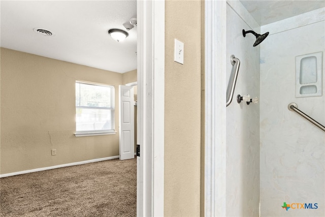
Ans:
[[[114,130],[112,110],[76,108],[76,131]]]

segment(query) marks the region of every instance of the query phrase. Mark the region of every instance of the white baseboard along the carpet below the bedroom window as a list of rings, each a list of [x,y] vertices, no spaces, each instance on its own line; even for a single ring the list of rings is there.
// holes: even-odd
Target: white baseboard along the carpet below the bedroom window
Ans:
[[[1,174],[0,178],[13,176],[13,175],[20,175],[20,174],[25,174],[25,173],[39,172],[39,171],[44,171],[44,170],[51,170],[51,169],[56,169],[56,168],[61,168],[61,167],[70,167],[70,166],[75,166],[75,165],[80,165],[80,164],[88,164],[88,163],[99,162],[99,161],[107,161],[107,160],[112,160],[112,159],[117,159],[117,158],[119,158],[119,156],[92,159],[92,160],[88,160],[88,161],[80,161],[80,162],[74,162],[74,163],[69,163],[69,164],[55,165],[55,166],[51,166],[51,167],[42,167],[42,168],[37,168],[37,169],[32,169],[32,170],[24,170],[24,171],[19,171],[19,172],[6,173],[6,174]]]

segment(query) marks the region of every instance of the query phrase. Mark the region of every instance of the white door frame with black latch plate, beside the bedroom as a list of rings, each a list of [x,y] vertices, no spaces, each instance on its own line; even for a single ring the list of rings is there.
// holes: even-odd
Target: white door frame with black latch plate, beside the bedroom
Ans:
[[[137,1],[137,216],[164,216],[165,1]]]

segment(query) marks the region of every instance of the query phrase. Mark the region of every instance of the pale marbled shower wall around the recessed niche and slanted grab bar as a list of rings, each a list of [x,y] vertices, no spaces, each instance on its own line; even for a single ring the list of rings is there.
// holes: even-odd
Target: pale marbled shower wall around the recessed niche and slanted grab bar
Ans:
[[[294,102],[325,125],[324,18],[322,8],[261,26],[270,32],[260,46],[261,216],[325,216],[325,133],[287,109]],[[323,52],[322,96],[296,98],[296,56],[315,52]]]

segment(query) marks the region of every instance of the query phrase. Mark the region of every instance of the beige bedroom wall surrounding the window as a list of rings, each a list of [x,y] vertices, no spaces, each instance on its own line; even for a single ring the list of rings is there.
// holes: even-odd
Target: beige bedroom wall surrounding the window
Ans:
[[[118,111],[122,74],[1,48],[1,174],[119,155],[118,133],[74,136],[76,80],[114,85]]]

